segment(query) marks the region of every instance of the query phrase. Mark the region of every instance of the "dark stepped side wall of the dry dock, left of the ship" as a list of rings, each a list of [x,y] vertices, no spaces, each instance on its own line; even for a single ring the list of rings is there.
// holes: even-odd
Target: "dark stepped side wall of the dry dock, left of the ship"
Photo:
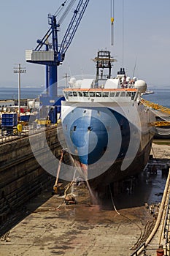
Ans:
[[[62,129],[59,129],[60,134]],[[31,135],[37,154],[47,162],[44,150],[45,141],[41,140],[41,133]],[[46,131],[47,143],[53,154],[59,158],[57,128]],[[7,219],[7,214],[22,206],[26,200],[37,195],[49,182],[53,184],[55,177],[50,176],[36,162],[32,153],[29,138],[21,138],[0,146],[0,222]]]

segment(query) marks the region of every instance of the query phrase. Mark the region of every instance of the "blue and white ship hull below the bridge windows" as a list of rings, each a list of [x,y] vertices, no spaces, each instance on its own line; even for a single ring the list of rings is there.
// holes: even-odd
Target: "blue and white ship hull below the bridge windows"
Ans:
[[[103,108],[74,108],[63,102],[62,110],[66,145],[92,189],[135,176],[144,169],[153,134],[152,116],[143,105],[112,103]]]

